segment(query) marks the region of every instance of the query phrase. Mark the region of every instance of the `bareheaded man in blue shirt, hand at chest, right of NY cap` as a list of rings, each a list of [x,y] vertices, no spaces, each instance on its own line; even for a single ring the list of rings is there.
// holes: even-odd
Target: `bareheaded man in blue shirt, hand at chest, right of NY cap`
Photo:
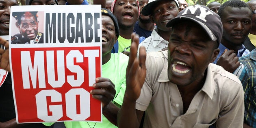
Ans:
[[[241,0],[229,0],[221,5],[218,15],[223,24],[223,35],[220,52],[213,63],[232,73],[240,65],[238,57],[249,53],[243,43],[251,30],[252,11]]]

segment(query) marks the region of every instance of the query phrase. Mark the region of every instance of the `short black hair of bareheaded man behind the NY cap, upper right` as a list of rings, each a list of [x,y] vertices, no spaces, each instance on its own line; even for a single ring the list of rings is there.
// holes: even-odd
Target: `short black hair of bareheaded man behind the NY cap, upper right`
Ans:
[[[219,10],[218,10],[218,15],[219,17],[222,16],[222,12],[223,10],[226,8],[226,7],[235,7],[235,8],[239,8],[241,9],[242,7],[247,7],[248,9],[251,10],[251,8],[245,3],[243,2],[242,0],[228,0],[227,2],[223,3],[221,5],[221,7],[219,7]]]

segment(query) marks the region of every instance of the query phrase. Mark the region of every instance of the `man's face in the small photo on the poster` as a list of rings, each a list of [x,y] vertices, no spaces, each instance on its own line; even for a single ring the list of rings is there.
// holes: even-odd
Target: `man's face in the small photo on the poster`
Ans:
[[[28,37],[30,40],[35,39],[38,33],[38,21],[35,15],[30,12],[24,13],[20,18],[20,24],[16,24],[20,30],[20,34],[24,37]]]

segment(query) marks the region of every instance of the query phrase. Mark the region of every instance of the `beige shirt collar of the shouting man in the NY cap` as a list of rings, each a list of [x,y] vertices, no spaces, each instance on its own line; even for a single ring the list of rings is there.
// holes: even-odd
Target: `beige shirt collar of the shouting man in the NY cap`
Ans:
[[[213,65],[210,63],[207,67],[207,74],[206,74],[206,79],[204,82],[204,86],[202,87],[202,91],[204,91],[211,100],[213,100],[213,94],[214,94],[214,79],[213,79],[213,74],[212,74],[212,69],[210,65]],[[158,82],[169,82],[168,78],[168,62],[164,65],[163,70],[161,74],[159,75],[159,78],[157,80]]]

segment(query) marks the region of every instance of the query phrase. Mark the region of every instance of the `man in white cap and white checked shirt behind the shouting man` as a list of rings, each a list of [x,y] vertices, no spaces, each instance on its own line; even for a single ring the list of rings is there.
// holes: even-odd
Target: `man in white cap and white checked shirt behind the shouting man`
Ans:
[[[166,27],[166,24],[177,16],[178,8],[178,0],[150,0],[142,9],[142,14],[149,15],[157,28],[150,37],[139,44],[139,47],[144,46],[147,53],[167,48],[171,28]]]

